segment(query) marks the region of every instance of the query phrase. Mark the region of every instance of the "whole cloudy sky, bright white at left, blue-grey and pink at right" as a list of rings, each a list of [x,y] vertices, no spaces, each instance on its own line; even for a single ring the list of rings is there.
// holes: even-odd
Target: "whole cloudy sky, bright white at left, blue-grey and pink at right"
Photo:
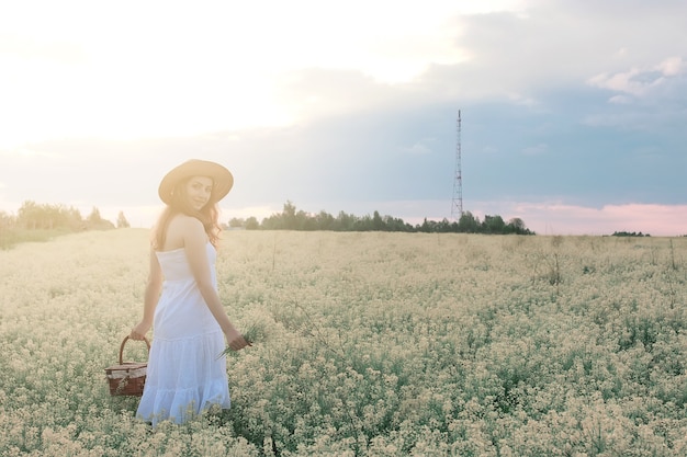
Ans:
[[[8,214],[150,227],[196,158],[234,174],[223,221],[451,220],[460,146],[481,219],[683,236],[687,2],[2,2],[0,125]]]

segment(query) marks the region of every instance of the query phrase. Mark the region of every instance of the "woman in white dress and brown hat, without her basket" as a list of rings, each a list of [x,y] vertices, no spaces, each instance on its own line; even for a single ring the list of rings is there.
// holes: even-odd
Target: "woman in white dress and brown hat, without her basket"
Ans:
[[[221,164],[190,160],[167,173],[158,190],[167,207],[154,230],[143,319],[129,334],[143,340],[155,329],[136,413],[153,425],[229,408],[224,340],[234,351],[250,344],[224,311],[214,266],[217,202],[233,184]]]

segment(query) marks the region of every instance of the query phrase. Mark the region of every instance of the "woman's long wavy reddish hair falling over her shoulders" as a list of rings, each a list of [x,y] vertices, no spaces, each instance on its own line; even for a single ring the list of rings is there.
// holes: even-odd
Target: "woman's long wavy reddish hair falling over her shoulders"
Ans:
[[[207,239],[212,245],[217,248],[219,232],[222,231],[218,224],[219,209],[216,203],[209,203],[200,210],[195,209],[189,203],[187,183],[190,179],[191,178],[181,180],[177,183],[177,185],[174,185],[171,202],[167,205],[167,207],[165,207],[165,210],[162,210],[162,214],[157,220],[151,240],[153,249],[156,251],[164,249],[165,241],[167,240],[167,228],[169,227],[169,222],[178,214],[195,217],[198,220],[203,222],[205,233],[207,233]]]

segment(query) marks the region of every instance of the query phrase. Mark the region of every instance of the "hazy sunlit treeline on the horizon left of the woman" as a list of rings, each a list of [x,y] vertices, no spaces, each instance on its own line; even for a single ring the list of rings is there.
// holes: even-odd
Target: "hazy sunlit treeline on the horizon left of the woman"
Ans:
[[[126,217],[120,212],[116,228],[129,227]],[[37,204],[35,202],[24,202],[16,212],[10,215],[0,212],[0,229],[7,230],[106,230],[113,229],[115,225],[100,216],[100,210],[95,207],[83,217],[74,206]]]

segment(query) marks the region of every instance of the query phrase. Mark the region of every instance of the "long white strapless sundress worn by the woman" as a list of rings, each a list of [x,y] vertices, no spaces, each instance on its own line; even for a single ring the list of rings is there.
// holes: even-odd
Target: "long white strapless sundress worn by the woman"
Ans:
[[[217,253],[209,242],[207,260],[217,287]],[[146,384],[136,415],[155,426],[184,422],[210,405],[230,405],[224,333],[210,312],[183,248],[157,252],[165,282],[155,309],[154,340]]]

